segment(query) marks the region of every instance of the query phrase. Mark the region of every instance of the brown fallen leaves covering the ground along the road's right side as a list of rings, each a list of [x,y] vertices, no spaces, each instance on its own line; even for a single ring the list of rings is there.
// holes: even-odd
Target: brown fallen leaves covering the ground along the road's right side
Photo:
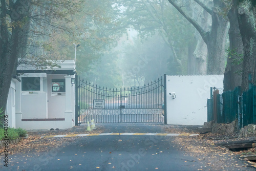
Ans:
[[[197,134],[187,127],[169,125],[165,127],[167,133],[177,134]],[[218,146],[216,143],[226,142],[223,135],[206,133],[198,136],[178,136],[175,138],[175,143],[180,150],[185,151],[186,156],[194,156],[198,161],[184,162],[199,162],[201,167],[198,170],[254,170],[256,163],[246,161],[240,157],[246,154],[255,154],[255,148],[250,148],[246,151],[232,152],[229,149]],[[228,140],[232,141],[232,140]]]

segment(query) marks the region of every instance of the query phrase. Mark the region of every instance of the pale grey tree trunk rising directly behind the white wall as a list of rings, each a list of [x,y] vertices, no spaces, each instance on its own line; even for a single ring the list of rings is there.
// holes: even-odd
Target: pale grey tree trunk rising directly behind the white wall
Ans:
[[[207,74],[223,74],[225,70],[225,40],[228,20],[222,11],[226,8],[222,0],[214,1],[211,31],[207,37]]]

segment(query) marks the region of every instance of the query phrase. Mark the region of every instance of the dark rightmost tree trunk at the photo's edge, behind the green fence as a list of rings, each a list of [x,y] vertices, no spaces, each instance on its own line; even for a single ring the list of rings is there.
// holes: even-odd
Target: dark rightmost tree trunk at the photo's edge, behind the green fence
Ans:
[[[255,25],[252,20],[252,14],[241,7],[238,9],[238,23],[244,45],[244,61],[243,61],[243,74],[241,91],[248,89],[248,74],[252,74],[252,83],[255,84],[256,80],[256,31]]]

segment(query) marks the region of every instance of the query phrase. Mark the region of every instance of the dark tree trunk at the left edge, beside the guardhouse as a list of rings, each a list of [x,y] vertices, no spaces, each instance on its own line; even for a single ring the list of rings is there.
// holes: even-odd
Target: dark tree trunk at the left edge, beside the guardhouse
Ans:
[[[27,1],[26,1],[27,2]],[[25,1],[10,1],[9,8],[5,1],[1,1],[1,15],[0,15],[0,109],[6,110],[7,98],[9,88],[12,80],[12,75],[15,73],[17,57],[22,51],[22,44],[24,40],[24,28],[28,26],[29,19],[25,18],[27,15],[24,8],[23,13],[17,13],[20,7],[24,7]],[[28,8],[27,8],[28,9]],[[19,9],[20,10],[20,9]],[[7,28],[7,20],[11,19],[11,32]]]

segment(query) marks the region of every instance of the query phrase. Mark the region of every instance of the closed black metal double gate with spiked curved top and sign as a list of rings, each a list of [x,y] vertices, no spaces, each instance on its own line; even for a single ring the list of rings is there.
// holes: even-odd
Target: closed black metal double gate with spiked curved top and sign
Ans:
[[[79,79],[78,124],[163,122],[162,78],[143,87],[110,89]]]

